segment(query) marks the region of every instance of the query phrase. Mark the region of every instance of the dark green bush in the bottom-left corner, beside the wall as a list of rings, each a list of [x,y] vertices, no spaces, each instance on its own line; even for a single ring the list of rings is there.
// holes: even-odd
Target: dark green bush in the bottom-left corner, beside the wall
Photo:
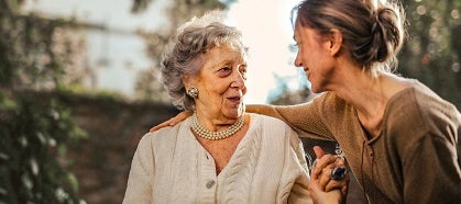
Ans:
[[[0,194],[3,203],[79,203],[75,178],[61,166],[65,145],[84,138],[56,99],[0,97]],[[58,162],[56,158],[63,160]]]

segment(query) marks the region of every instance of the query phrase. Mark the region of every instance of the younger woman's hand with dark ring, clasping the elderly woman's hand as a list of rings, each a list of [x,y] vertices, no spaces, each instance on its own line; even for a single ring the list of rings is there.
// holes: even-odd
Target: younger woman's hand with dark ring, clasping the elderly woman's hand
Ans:
[[[349,184],[349,174],[341,180],[332,180],[331,171],[336,167],[345,168],[344,160],[339,156],[326,155],[325,151],[318,147],[314,147],[314,152],[316,154],[317,160],[311,171],[310,179],[318,181],[319,190],[321,191],[332,191],[334,189],[341,190],[342,195],[345,197],[348,194],[348,184]]]

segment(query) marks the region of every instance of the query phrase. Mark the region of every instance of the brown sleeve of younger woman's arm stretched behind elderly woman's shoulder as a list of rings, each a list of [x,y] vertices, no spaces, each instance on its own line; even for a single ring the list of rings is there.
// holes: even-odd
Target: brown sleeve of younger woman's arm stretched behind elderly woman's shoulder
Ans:
[[[311,102],[298,105],[246,105],[248,112],[259,113],[287,123],[301,137],[311,137],[318,139],[334,139],[329,124],[329,112],[331,109],[327,100],[332,99],[331,93],[325,93]]]

